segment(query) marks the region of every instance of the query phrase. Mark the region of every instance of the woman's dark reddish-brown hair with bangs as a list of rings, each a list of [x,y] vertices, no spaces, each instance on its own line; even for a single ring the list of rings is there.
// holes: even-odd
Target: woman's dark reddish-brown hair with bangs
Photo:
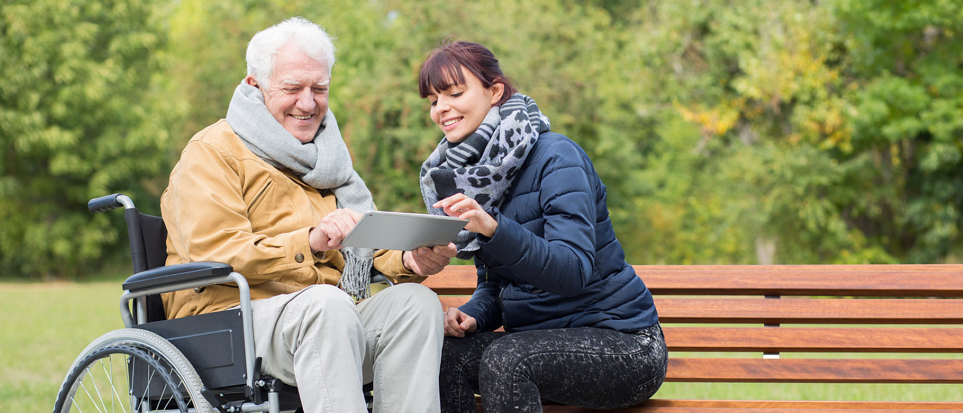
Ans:
[[[490,50],[478,43],[459,40],[446,41],[431,51],[428,60],[422,63],[421,73],[418,75],[418,93],[422,98],[426,98],[432,91],[464,85],[465,77],[460,70],[462,66],[479,78],[484,87],[505,85],[502,99],[496,106],[504,104],[512,93],[518,91],[505,73],[502,73],[498,59],[495,59]]]

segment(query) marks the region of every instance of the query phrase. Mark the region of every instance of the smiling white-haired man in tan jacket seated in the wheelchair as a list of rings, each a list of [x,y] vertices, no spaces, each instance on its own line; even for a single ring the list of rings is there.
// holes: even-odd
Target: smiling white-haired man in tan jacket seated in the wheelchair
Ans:
[[[334,46],[303,18],[253,36],[226,119],[195,134],[161,200],[168,264],[221,261],[250,283],[263,372],[308,412],[437,412],[442,311],[417,281],[455,246],[342,248],[374,208],[327,108]],[[369,298],[372,271],[399,282]],[[412,282],[414,281],[414,282]],[[340,288],[339,288],[340,287]],[[165,295],[169,318],[239,304],[230,285]]]

